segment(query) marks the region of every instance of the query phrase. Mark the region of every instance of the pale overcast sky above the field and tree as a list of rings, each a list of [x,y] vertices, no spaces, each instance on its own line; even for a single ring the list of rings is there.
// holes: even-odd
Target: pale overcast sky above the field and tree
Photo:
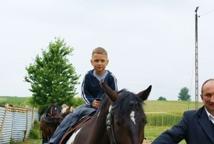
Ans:
[[[60,37],[74,48],[81,75],[91,51],[106,48],[119,89],[176,100],[184,86],[194,100],[195,8],[199,6],[199,85],[214,78],[213,0],[6,0],[0,4],[0,96],[31,96],[25,67]],[[80,93],[80,86],[77,86]]]

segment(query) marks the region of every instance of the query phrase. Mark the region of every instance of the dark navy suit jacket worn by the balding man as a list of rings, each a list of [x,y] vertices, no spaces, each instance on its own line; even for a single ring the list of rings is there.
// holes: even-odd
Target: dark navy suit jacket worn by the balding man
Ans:
[[[187,144],[214,144],[214,124],[204,107],[184,112],[182,120],[163,132],[152,144],[177,144],[183,139]]]

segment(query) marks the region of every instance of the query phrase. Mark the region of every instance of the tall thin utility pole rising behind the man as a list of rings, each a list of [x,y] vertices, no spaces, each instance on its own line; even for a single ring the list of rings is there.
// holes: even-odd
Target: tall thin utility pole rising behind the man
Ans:
[[[198,109],[198,8],[195,9],[195,109]]]

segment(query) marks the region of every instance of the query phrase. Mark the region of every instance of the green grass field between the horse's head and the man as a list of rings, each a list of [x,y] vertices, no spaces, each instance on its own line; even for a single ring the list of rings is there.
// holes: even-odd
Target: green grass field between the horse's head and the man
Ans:
[[[202,106],[202,103],[199,103]],[[195,109],[194,102],[183,101],[146,101],[145,112],[148,124],[145,127],[145,137],[147,140],[154,140],[163,131],[176,124],[186,110]],[[156,124],[154,124],[154,122]],[[185,144],[185,141],[180,142]]]

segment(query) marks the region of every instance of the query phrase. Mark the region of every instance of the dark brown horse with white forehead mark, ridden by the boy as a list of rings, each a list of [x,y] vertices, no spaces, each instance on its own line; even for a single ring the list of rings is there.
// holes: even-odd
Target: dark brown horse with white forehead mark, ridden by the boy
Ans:
[[[61,143],[69,144],[142,144],[146,116],[143,101],[152,86],[134,94],[127,90],[113,91],[102,83],[106,93],[100,110],[77,129],[72,136],[63,137]]]

